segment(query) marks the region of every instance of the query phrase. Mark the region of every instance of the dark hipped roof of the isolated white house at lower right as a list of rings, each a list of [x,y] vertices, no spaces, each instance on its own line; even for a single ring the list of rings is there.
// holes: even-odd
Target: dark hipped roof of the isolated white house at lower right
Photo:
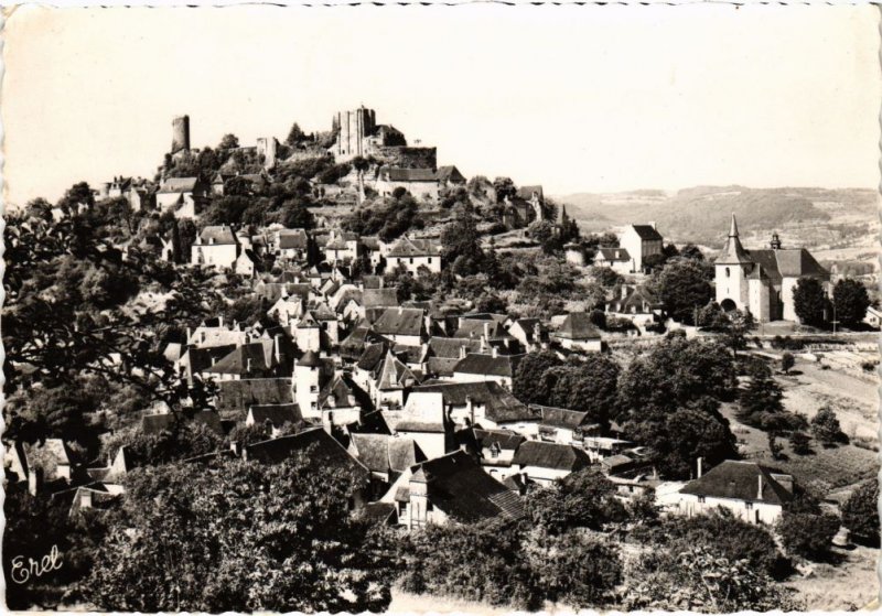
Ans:
[[[763,478],[762,498],[760,477]],[[733,498],[752,502],[784,505],[793,500],[793,495],[772,477],[772,471],[755,462],[727,460],[721,462],[698,479],[686,484],[680,494]]]

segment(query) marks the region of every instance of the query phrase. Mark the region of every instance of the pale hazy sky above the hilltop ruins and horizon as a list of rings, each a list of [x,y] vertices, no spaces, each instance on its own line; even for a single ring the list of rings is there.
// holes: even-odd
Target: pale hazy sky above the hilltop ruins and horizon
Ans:
[[[550,194],[879,180],[872,7],[19,9],[8,199],[152,176],[193,147],[283,139],[361,104],[439,164]]]

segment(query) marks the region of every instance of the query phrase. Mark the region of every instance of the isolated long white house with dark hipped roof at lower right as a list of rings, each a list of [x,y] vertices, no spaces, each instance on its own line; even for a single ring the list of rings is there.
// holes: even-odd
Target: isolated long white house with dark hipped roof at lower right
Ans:
[[[784,505],[793,500],[793,476],[776,474],[755,462],[727,460],[679,491],[676,511],[692,517],[718,507],[751,523],[774,525]]]

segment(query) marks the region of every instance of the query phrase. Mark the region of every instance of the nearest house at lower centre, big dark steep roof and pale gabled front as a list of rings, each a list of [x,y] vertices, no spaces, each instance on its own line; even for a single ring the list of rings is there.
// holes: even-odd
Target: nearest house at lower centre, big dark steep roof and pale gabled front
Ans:
[[[520,497],[463,451],[411,466],[380,501],[395,505],[398,523],[409,530],[525,515]]]

